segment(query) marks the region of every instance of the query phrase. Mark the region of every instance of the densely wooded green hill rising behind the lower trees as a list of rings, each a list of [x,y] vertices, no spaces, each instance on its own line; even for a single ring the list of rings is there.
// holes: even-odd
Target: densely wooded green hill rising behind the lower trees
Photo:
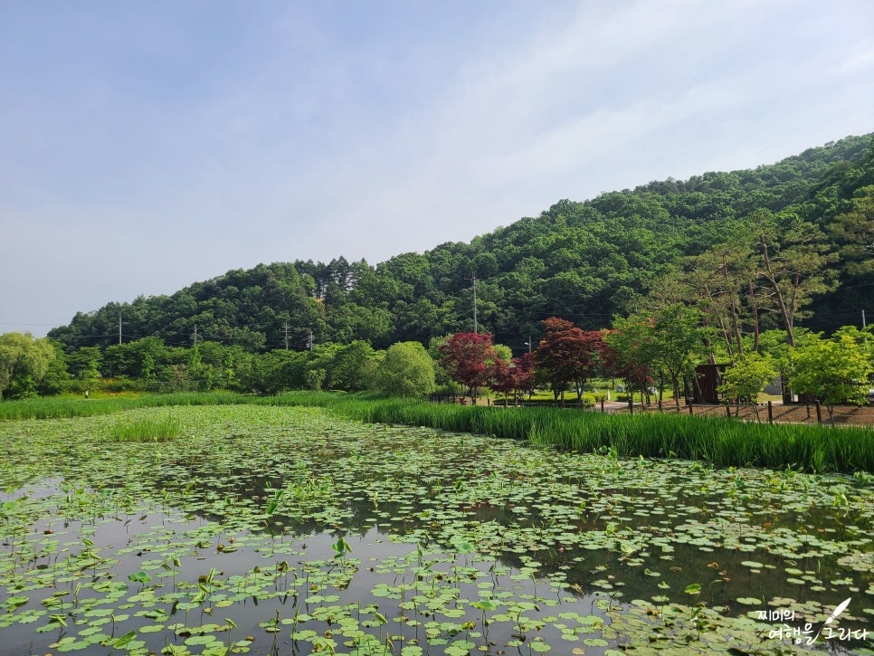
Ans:
[[[49,337],[68,350],[116,344],[120,314],[125,341],[157,336],[190,346],[196,332],[200,341],[251,351],[300,350],[310,339],[427,345],[473,328],[474,276],[480,331],[517,351],[537,338],[547,317],[607,327],[614,315],[658,302],[684,278],[705,274],[723,281],[719,295],[755,306],[763,328],[776,327],[755,261],[765,225],[765,253],[783,261],[787,284],[798,283],[790,290],[799,300],[797,322],[831,331],[858,323],[861,300],[874,295],[872,137],[844,138],[754,170],[562,200],[470,243],[443,243],[375,266],[338,257],[228,271],[171,296],[80,312]]]

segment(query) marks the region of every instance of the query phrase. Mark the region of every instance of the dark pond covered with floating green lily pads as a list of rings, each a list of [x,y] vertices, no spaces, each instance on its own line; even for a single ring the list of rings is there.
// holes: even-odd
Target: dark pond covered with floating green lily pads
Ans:
[[[166,417],[176,440],[109,440]],[[874,652],[867,474],[299,407],[0,431],[3,656]]]

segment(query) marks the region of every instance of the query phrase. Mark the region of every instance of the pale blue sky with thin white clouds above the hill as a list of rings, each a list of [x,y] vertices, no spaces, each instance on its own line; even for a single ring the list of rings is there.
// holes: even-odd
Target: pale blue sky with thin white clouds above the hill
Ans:
[[[0,0],[0,333],[871,131],[870,0]]]

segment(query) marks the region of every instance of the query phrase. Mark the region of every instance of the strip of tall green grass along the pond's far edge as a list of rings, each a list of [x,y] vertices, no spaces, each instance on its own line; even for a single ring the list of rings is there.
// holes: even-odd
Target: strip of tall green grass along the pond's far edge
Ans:
[[[210,393],[144,395],[100,401],[34,399],[0,404],[0,419],[89,416],[136,407],[201,404],[319,406],[368,423],[430,426],[622,457],[682,458],[717,466],[874,472],[874,431],[864,427],[767,425],[723,417],[631,416],[546,407],[471,407],[366,395],[296,392],[252,397]]]

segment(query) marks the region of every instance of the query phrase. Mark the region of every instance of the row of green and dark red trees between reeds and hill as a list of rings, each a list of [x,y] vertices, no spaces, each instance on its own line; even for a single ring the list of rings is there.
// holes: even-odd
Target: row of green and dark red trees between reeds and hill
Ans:
[[[386,395],[421,396],[435,389],[470,395],[481,388],[503,395],[551,390],[556,401],[571,391],[576,403],[596,378],[620,379],[628,400],[641,402],[670,390],[679,408],[697,384],[696,366],[729,359],[719,391],[737,403],[755,404],[776,376],[788,395],[826,404],[830,414],[841,403],[867,400],[874,375],[872,329],[843,327],[831,338],[806,329],[774,329],[743,336],[735,350],[720,348],[720,330],[708,326],[704,309],[673,303],[655,312],[615,318],[611,328],[584,330],[562,318],[542,322],[536,349],[519,357],[488,333],[460,332],[419,342],[398,342],[376,350],[364,341],[314,345],[309,350],[273,350],[252,354],[239,346],[203,342],[167,347],[143,338],[100,351],[83,347],[72,355],[49,339],[7,333],[0,336],[0,393],[4,398],[58,394],[63,391],[138,389],[176,391],[228,389],[278,394],[292,389],[373,390]],[[717,346],[717,349],[714,349]],[[731,359],[733,358],[733,359]],[[603,398],[601,399],[603,401]]]

